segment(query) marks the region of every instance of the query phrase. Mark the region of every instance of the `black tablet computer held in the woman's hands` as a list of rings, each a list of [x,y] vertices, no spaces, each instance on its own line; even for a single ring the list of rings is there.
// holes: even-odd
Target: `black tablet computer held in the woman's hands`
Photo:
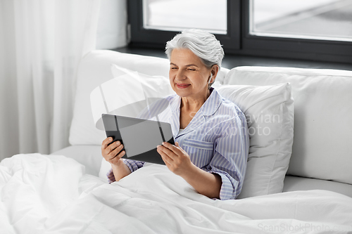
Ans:
[[[165,165],[156,146],[164,141],[175,145],[169,123],[108,114],[102,119],[106,137],[123,144],[122,158]]]

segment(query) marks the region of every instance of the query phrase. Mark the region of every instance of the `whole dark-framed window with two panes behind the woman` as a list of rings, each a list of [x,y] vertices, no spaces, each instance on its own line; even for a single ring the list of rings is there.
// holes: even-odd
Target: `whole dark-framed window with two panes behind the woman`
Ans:
[[[127,3],[130,46],[164,48],[176,32],[197,27],[215,34],[226,54],[352,63],[352,0]]]

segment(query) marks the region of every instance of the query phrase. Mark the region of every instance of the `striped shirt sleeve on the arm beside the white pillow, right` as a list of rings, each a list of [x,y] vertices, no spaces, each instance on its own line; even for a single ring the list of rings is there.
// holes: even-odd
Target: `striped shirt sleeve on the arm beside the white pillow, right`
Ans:
[[[224,124],[227,131],[215,140],[215,153],[203,170],[221,176],[220,200],[236,199],[246,174],[249,134],[246,119],[234,117]]]

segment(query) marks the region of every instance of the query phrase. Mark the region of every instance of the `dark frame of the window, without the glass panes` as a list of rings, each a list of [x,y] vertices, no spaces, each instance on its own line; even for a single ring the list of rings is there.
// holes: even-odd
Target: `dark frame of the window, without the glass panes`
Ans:
[[[130,46],[165,48],[177,32],[143,27],[142,0],[127,1]],[[351,41],[263,37],[250,34],[249,0],[227,0],[227,34],[215,34],[225,54],[352,63]]]

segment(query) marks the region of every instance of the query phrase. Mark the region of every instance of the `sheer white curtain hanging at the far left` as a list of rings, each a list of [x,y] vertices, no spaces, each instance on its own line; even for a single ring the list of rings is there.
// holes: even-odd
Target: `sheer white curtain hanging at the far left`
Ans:
[[[0,160],[68,144],[75,70],[101,0],[0,0]]]

